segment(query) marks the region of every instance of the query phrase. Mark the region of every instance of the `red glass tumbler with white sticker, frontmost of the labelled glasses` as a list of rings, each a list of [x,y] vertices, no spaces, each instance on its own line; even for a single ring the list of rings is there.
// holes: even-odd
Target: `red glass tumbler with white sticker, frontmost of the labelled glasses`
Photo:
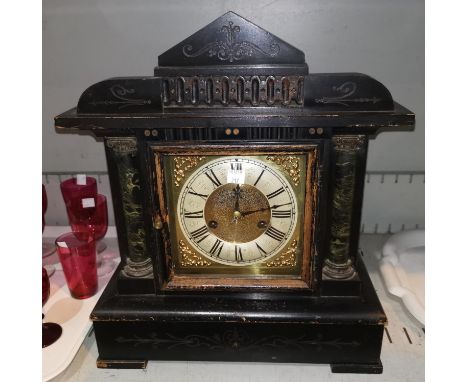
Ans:
[[[55,244],[72,297],[85,299],[93,296],[98,289],[95,241],[91,238],[80,240],[69,232],[60,235]]]

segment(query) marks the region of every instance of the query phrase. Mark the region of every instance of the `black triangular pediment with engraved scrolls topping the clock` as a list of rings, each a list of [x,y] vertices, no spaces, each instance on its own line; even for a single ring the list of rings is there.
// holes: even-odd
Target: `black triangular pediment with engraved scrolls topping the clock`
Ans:
[[[218,17],[158,58],[160,67],[304,63],[302,51],[234,12]]]

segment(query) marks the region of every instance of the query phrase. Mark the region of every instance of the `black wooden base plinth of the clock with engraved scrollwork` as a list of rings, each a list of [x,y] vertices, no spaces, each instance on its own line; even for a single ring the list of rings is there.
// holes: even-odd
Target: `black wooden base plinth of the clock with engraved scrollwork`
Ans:
[[[380,373],[386,317],[359,256],[356,265],[359,297],[241,291],[119,295],[116,273],[91,314],[98,365],[328,363],[337,373]]]

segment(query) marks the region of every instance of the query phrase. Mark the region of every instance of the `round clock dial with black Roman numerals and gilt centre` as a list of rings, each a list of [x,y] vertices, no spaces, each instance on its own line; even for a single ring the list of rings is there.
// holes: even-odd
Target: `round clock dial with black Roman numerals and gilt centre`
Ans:
[[[201,254],[243,266],[270,259],[287,245],[297,223],[297,200],[269,163],[222,157],[187,179],[177,215],[186,239]]]

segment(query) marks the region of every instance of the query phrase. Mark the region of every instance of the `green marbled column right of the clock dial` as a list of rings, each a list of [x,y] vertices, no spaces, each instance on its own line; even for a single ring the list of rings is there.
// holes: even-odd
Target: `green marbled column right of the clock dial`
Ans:
[[[367,139],[363,135],[336,136],[332,140],[334,172],[330,244],[323,279],[356,277],[353,260],[359,243]]]

